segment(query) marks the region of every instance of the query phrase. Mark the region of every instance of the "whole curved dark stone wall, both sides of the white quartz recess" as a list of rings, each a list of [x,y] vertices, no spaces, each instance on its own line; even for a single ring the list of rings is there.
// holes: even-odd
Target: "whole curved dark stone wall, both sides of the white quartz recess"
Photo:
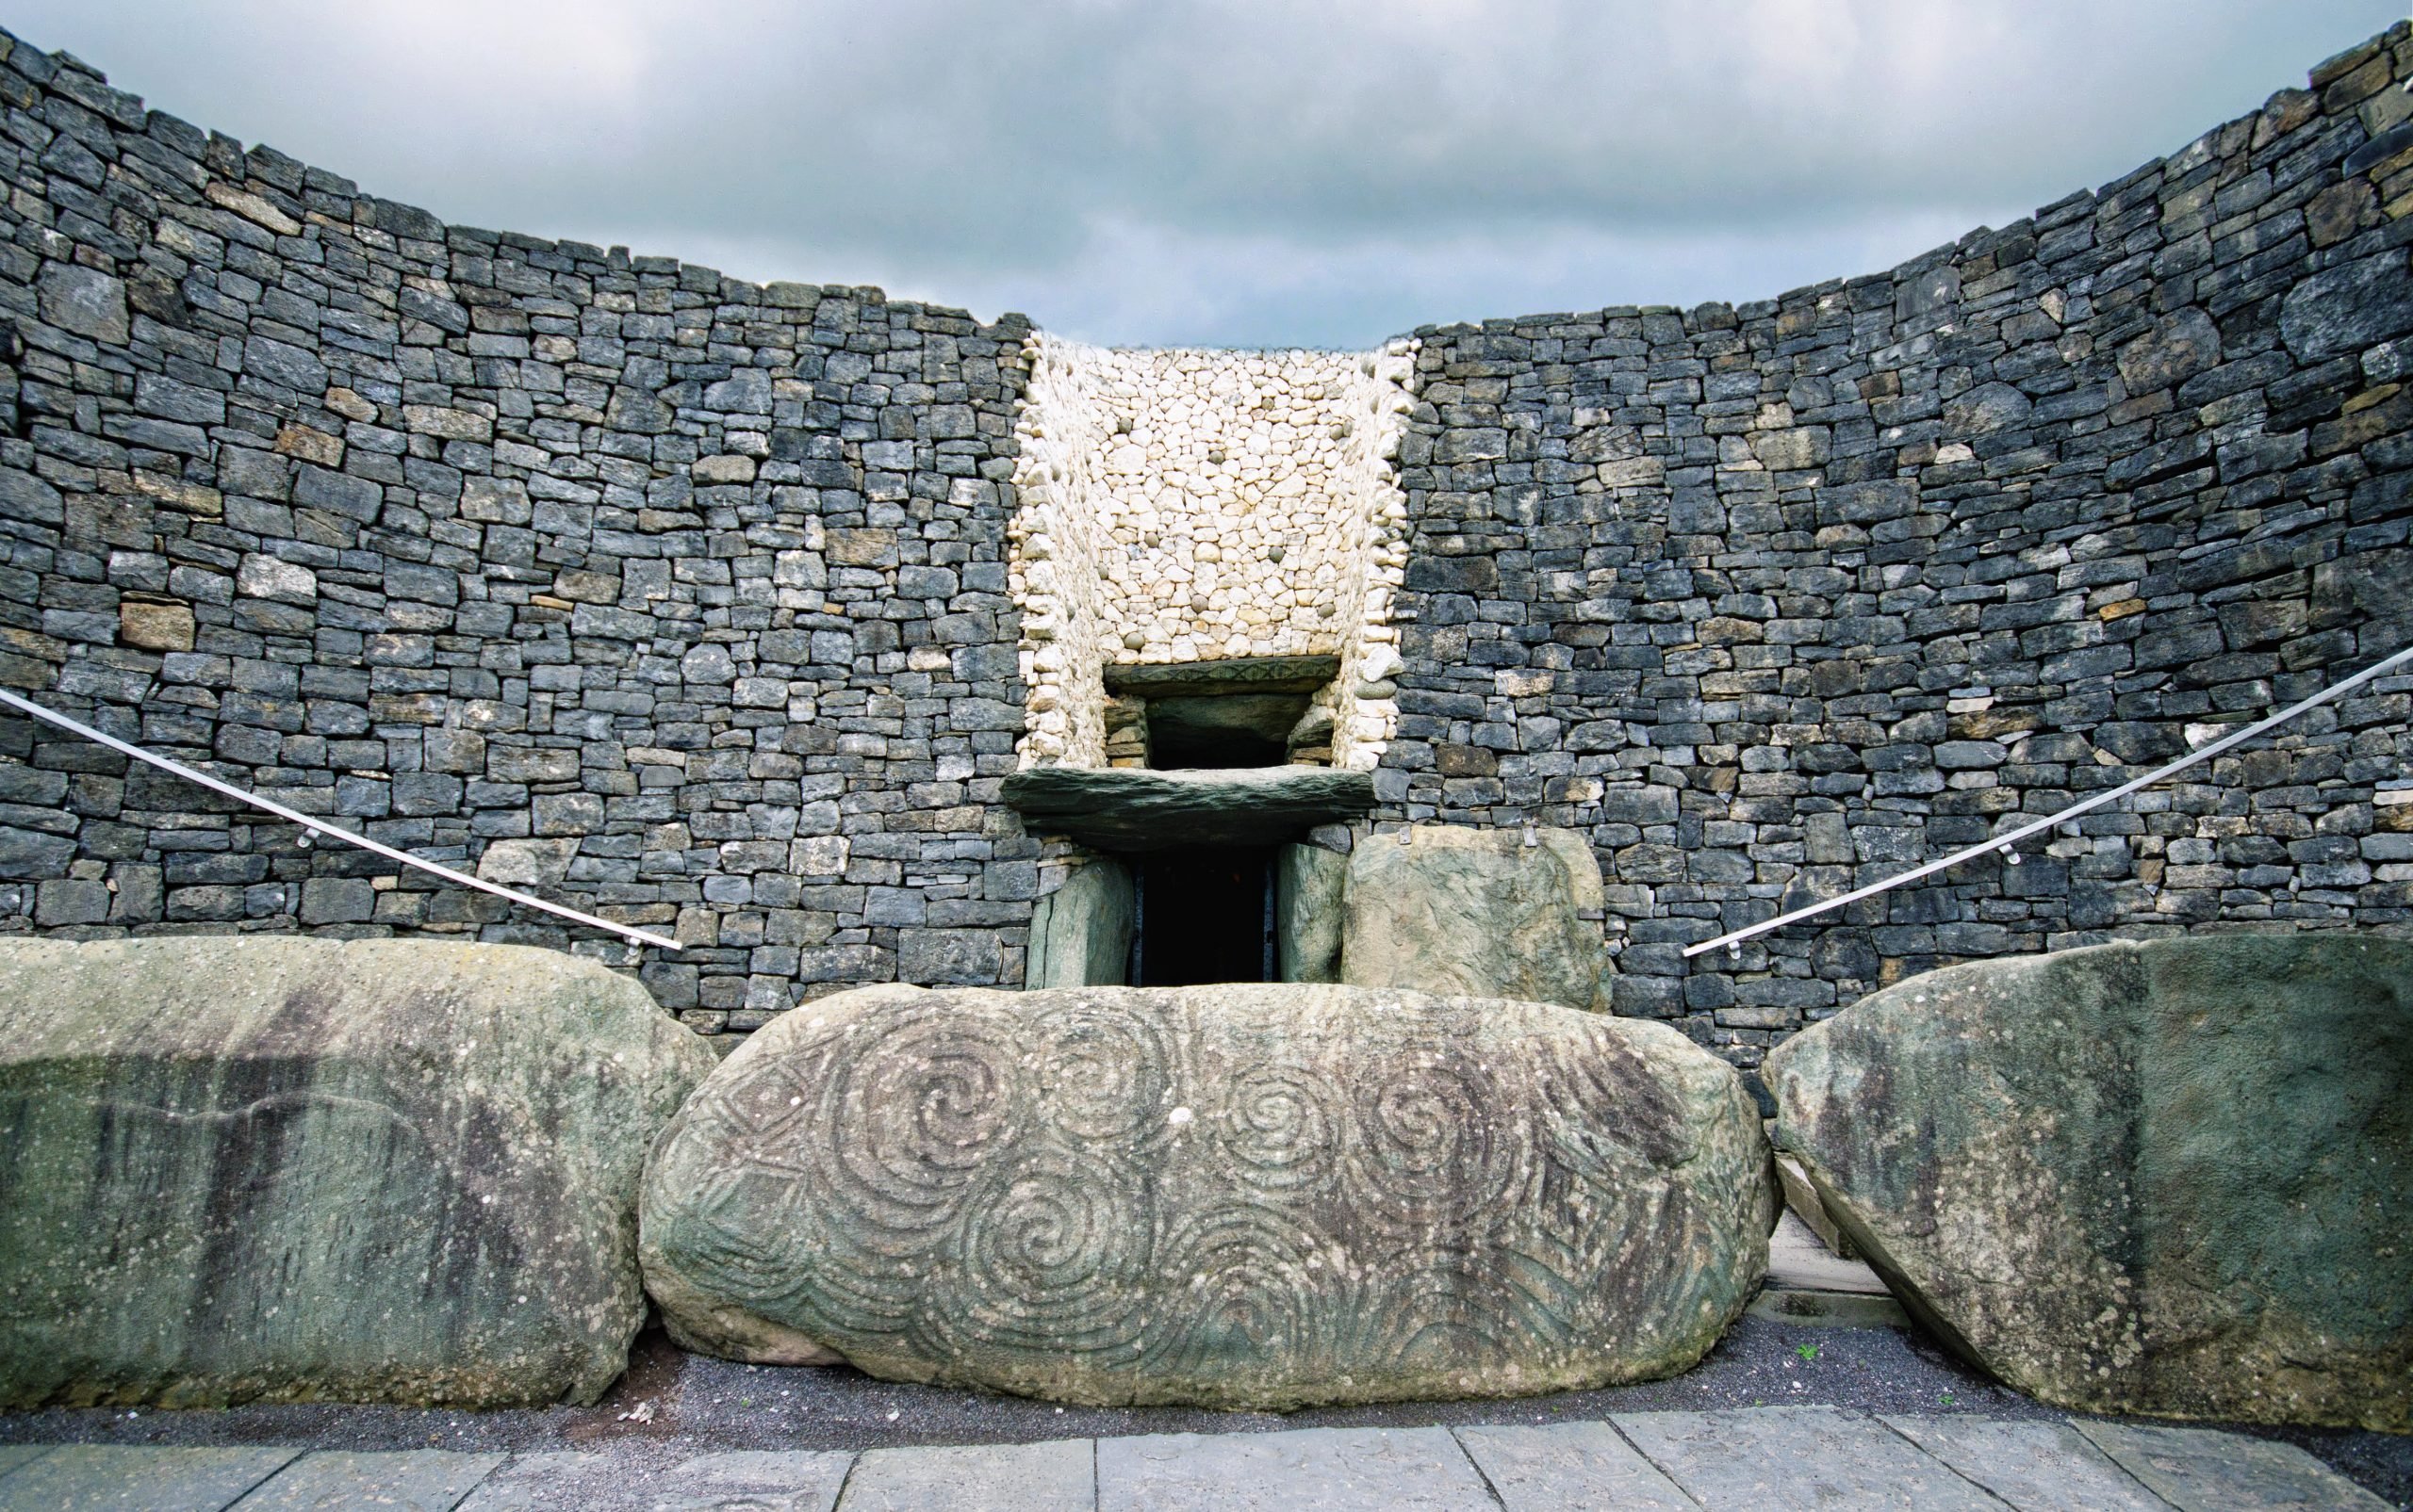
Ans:
[[[1588,830],[1619,1006],[1745,1066],[1945,960],[2406,924],[2396,680],[1679,957],[2413,639],[2408,63],[1889,275],[1419,333],[1380,817]],[[444,227],[7,39],[0,106],[0,682],[671,926],[705,1030],[1021,979],[1021,318]],[[0,926],[572,943],[17,719]]]

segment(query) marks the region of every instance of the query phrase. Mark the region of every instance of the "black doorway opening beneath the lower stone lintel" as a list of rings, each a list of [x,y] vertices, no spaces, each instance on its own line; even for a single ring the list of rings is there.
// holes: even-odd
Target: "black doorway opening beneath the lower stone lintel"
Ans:
[[[1132,986],[1276,981],[1274,851],[1151,851],[1132,873]]]

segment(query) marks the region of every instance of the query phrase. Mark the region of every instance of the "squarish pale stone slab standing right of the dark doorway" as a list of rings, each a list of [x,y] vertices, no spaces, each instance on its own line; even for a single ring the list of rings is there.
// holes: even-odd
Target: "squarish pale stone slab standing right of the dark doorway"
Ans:
[[[1609,1008],[1600,861],[1573,830],[1416,825],[1349,856],[1342,981]]]

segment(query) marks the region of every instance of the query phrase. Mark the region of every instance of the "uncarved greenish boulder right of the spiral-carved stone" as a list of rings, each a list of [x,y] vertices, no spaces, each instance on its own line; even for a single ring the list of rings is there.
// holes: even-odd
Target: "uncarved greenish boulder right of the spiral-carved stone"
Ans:
[[[1793,1037],[1766,1080],[1863,1259],[2012,1387],[2413,1430],[2413,940],[1947,967]]]

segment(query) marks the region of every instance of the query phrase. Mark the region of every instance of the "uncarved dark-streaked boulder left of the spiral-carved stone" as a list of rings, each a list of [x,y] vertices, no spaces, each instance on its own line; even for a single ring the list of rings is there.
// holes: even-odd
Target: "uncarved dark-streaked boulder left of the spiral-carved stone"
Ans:
[[[712,1066],[555,950],[0,943],[0,1406],[596,1401]]]

